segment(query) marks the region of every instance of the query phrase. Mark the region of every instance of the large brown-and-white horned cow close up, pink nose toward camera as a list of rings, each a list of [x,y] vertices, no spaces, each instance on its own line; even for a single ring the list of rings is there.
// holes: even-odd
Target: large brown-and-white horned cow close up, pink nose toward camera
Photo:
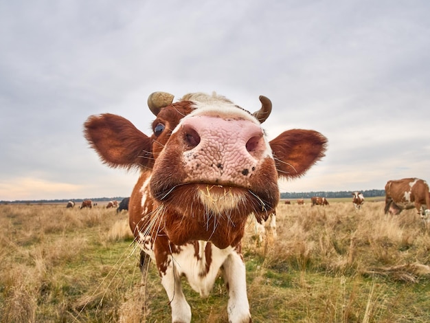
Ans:
[[[223,272],[229,322],[251,322],[241,239],[248,216],[262,223],[280,198],[278,178],[300,177],[319,161],[327,139],[317,131],[293,129],[267,139],[262,129],[271,112],[260,96],[255,113],[216,93],[189,93],[177,102],[152,93],[155,115],[148,137],[125,118],[91,115],[84,137],[113,168],[138,168],[128,217],[166,290],[172,322],[192,313],[181,276],[207,297]]]

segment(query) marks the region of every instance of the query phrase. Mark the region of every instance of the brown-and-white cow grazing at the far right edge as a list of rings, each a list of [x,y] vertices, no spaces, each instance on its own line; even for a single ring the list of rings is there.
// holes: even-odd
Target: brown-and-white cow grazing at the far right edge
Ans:
[[[427,182],[418,178],[387,181],[385,185],[385,214],[399,214],[416,208],[421,216],[429,214],[430,195]]]

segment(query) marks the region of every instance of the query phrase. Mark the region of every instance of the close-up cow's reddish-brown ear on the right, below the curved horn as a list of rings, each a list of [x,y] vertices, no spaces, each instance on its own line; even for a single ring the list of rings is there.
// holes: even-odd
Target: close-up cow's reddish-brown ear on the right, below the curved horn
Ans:
[[[269,143],[280,177],[304,175],[313,164],[324,157],[327,138],[317,131],[293,129],[281,133]]]

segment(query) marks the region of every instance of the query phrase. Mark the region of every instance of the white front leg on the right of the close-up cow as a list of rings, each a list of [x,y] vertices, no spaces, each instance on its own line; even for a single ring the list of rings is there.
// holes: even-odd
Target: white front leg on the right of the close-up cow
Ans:
[[[247,281],[245,263],[242,256],[232,252],[223,264],[224,280],[229,291],[227,313],[229,322],[251,322],[249,303],[247,296]]]

